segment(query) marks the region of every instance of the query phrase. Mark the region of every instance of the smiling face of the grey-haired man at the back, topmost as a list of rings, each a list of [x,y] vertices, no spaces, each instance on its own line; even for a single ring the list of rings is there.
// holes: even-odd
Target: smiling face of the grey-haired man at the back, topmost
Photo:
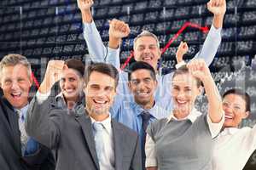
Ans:
[[[134,59],[144,61],[151,65],[154,70],[157,69],[158,59],[160,59],[160,48],[154,37],[139,37],[134,46]]]

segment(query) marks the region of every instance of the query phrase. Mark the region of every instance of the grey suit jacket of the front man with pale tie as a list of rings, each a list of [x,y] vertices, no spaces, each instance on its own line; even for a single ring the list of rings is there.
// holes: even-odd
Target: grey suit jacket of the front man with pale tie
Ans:
[[[99,170],[90,116],[84,108],[74,113],[54,108],[38,98],[26,116],[26,132],[57,151],[56,170]],[[116,170],[141,170],[142,158],[137,133],[112,120]],[[104,142],[104,141],[102,141]]]

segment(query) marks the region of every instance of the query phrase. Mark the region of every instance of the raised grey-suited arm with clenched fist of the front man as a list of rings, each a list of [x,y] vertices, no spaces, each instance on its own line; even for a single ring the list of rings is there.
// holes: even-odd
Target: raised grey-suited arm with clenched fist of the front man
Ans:
[[[55,148],[59,142],[61,116],[49,114],[51,107],[47,96],[52,85],[59,80],[63,66],[63,61],[49,61],[44,81],[26,115],[26,133],[50,149]]]

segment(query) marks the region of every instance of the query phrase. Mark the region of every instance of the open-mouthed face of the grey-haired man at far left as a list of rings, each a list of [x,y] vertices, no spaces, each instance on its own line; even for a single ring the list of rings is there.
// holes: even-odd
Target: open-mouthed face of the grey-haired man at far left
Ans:
[[[26,66],[4,66],[1,74],[1,88],[3,95],[16,109],[28,104],[29,90],[32,78],[28,75]]]

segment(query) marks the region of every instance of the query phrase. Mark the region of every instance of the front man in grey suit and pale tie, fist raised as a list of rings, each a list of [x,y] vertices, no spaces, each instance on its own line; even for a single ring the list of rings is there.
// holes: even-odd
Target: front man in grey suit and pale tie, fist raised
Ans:
[[[56,150],[57,170],[141,170],[137,133],[112,120],[108,112],[119,82],[118,71],[113,65],[89,65],[84,72],[85,108],[67,112],[52,108],[46,99],[47,89],[65,67],[61,61],[49,62],[26,117],[27,133]],[[55,80],[51,82],[50,77]]]

